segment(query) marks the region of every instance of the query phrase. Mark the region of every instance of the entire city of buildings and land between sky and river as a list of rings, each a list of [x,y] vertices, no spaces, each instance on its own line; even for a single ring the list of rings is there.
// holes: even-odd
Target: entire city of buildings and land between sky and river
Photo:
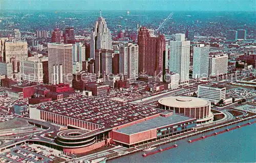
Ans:
[[[147,157],[253,125],[253,14],[4,11],[0,162]]]

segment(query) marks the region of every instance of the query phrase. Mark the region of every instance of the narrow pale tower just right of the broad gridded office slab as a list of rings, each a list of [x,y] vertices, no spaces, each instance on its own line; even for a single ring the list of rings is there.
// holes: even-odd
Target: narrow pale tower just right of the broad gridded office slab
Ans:
[[[82,58],[85,59],[86,57],[86,51],[84,48],[85,47],[81,42],[73,44],[73,65],[78,66],[78,72],[82,71]]]

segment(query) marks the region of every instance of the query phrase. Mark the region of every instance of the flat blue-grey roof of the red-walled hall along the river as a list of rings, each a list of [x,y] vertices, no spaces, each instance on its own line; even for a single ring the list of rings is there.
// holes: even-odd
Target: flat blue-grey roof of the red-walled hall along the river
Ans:
[[[173,114],[168,117],[159,116],[159,117],[151,119],[151,120],[146,120],[146,121],[136,123],[131,126],[117,129],[116,131],[131,135],[131,134],[135,134],[138,132],[143,132],[143,131],[147,131],[147,130],[151,130],[151,129],[155,129],[155,128],[160,128],[163,126],[172,125],[172,124],[176,124],[176,123],[179,123],[182,121],[193,120],[193,119],[195,119],[195,118],[185,117],[185,116],[179,115],[179,114]]]

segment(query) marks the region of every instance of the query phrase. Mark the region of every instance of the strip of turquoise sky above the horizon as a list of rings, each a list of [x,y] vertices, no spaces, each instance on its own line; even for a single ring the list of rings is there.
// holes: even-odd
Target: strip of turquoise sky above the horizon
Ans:
[[[1,10],[253,11],[256,0],[0,0]]]

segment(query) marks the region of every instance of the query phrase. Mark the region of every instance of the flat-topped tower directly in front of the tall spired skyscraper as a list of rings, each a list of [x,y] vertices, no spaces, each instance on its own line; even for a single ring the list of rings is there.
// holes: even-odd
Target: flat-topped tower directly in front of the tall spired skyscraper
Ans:
[[[98,49],[95,51],[95,73],[97,77],[112,74],[112,50]]]

